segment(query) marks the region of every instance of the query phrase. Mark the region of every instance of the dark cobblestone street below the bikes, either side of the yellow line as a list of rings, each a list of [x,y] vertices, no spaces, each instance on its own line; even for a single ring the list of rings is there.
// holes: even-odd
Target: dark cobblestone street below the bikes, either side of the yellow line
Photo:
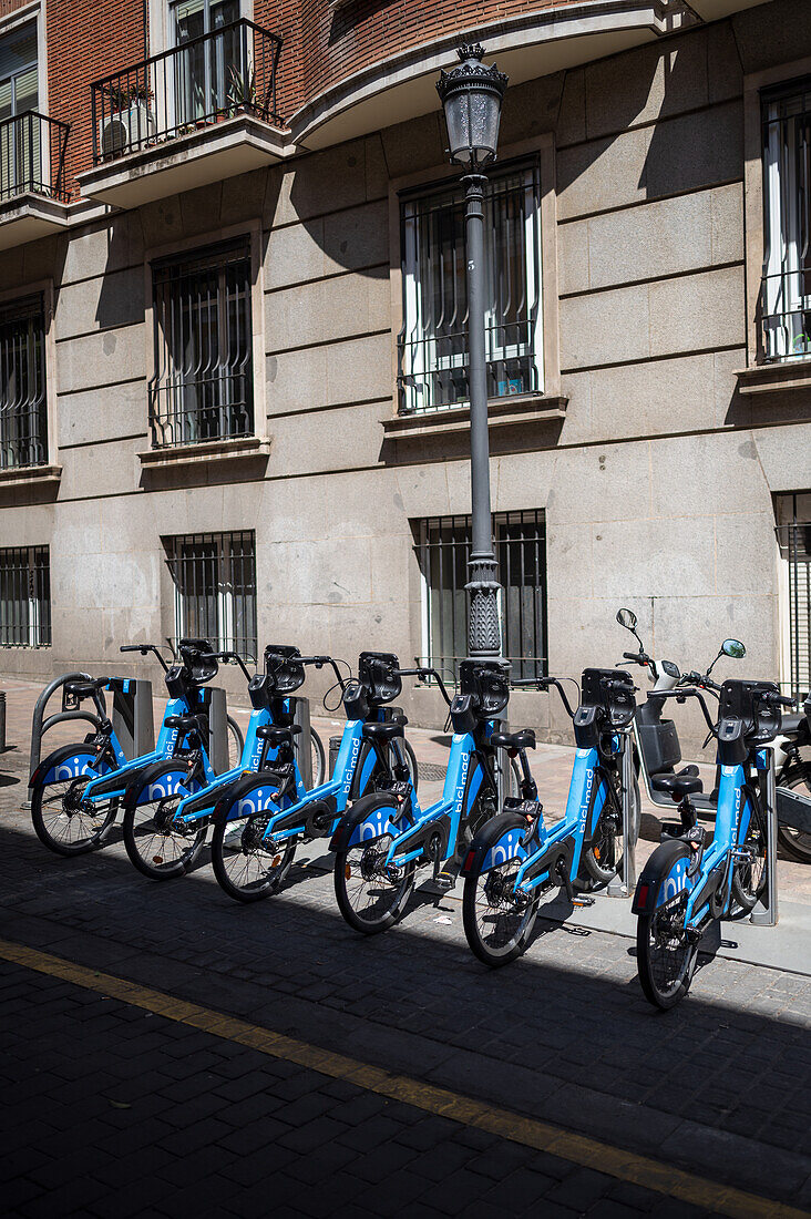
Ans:
[[[29,714],[33,686],[6,689]],[[249,907],[206,856],[157,885],[118,837],[52,857],[20,807],[15,707],[9,739],[26,748],[0,757],[4,940],[749,1191],[763,1198],[751,1214],[779,1213],[766,1198],[811,1208],[807,979],[715,959],[660,1015],[621,936],[541,923],[493,974],[467,951],[460,902],[417,892],[399,926],[361,940],[316,845]],[[659,1189],[629,1184],[9,959],[0,995],[6,1212],[713,1213],[715,1195],[668,1196],[666,1171]]]

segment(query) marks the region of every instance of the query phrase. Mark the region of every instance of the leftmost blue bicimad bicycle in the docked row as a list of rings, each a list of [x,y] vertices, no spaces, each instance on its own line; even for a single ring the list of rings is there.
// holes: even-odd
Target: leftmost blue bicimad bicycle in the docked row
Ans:
[[[127,644],[121,649],[141,656],[154,652],[166,674],[170,695],[155,748],[129,762],[106,714],[102,692],[115,689],[126,692],[128,679],[83,679],[65,685],[67,705],[93,701],[99,729],[80,745],[54,750],[30,777],[32,820],[37,836],[49,850],[73,856],[104,846],[127,784],[146,766],[183,751],[185,737],[178,733],[174,720],[205,712],[209,705],[210,694],[202,689],[202,681],[210,677],[199,667],[201,655],[209,650],[206,640],[182,639],[178,644],[180,663],[170,668],[155,644]],[[229,722],[229,730],[241,741],[237,724]]]

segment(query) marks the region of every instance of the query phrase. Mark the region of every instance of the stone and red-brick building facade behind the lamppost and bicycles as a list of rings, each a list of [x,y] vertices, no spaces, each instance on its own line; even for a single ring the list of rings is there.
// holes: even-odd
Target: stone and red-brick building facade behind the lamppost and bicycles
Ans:
[[[748,675],[807,685],[806,7],[150,0],[144,27],[140,2],[6,0],[0,69],[33,26],[70,152],[56,190],[51,133],[26,182],[0,126],[2,670],[110,672],[195,627],[452,668],[470,430],[433,82],[463,35],[511,78],[488,211],[509,653],[611,664],[628,605],[684,668],[734,635]],[[402,701],[441,723],[434,689]],[[511,718],[567,737],[546,698]]]

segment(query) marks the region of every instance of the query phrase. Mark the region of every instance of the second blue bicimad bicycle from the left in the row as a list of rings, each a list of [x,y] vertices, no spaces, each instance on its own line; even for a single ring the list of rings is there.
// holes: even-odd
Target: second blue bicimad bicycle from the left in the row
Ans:
[[[288,762],[287,746],[291,745],[293,734],[301,731],[293,723],[295,708],[290,698],[304,683],[300,656],[298,647],[272,644],[265,649],[265,670],[254,675],[237,652],[209,652],[201,657],[204,663],[213,666],[220,661],[239,664],[248,679],[254,709],[241,755],[228,770],[215,777],[205,748],[198,747],[189,753],[184,770],[171,761],[159,762],[128,786],[124,846],[132,863],[150,880],[171,880],[189,872],[200,857],[217,802],[238,780],[244,785],[245,775],[263,774],[268,767]],[[189,729],[194,731],[191,722]],[[323,747],[316,733],[312,737],[318,766]],[[295,778],[304,795],[298,766]]]

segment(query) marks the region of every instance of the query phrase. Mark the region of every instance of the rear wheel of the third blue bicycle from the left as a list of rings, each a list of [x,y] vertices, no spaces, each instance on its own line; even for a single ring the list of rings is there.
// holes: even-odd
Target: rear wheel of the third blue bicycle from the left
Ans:
[[[296,842],[274,846],[263,837],[267,814],[221,820],[211,840],[211,864],[224,892],[235,902],[257,902],[282,887],[293,865]]]

